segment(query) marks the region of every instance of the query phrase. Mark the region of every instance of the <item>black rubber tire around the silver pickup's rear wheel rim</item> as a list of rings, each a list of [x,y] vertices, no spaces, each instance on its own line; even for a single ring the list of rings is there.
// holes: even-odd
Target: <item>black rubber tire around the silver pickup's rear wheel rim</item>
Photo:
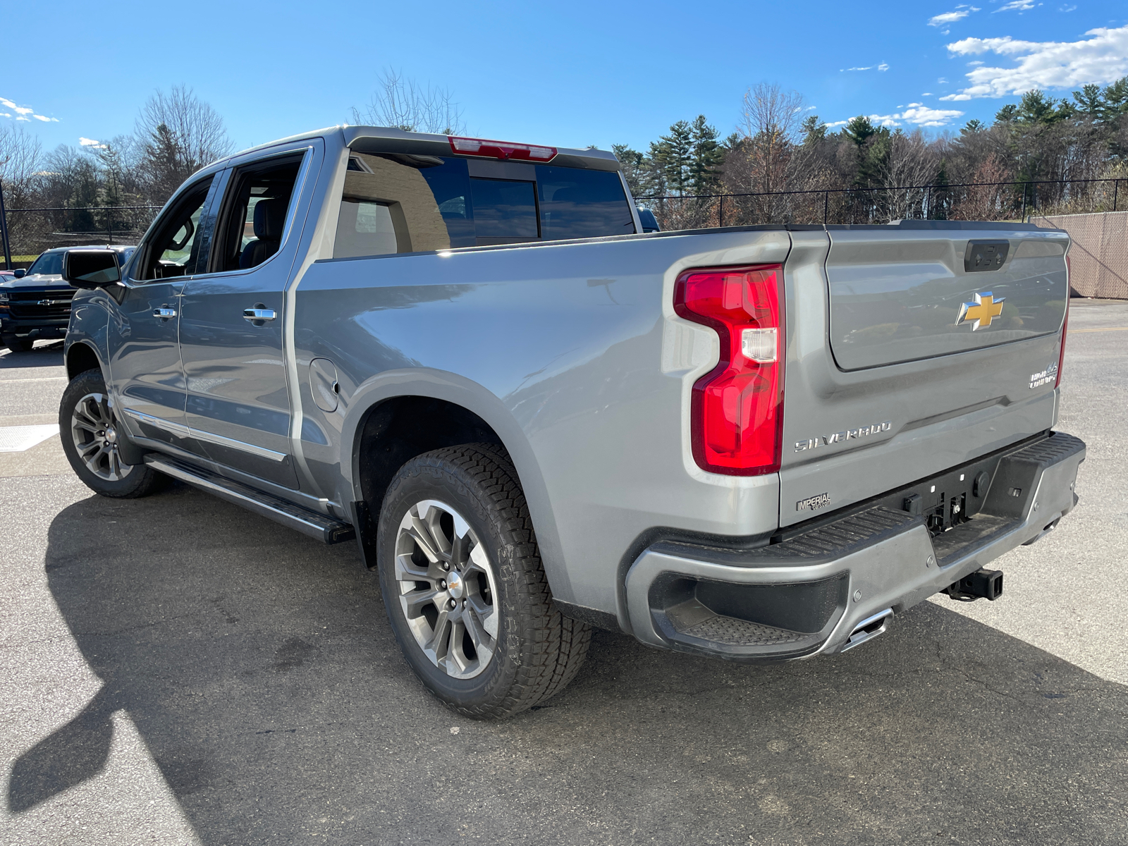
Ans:
[[[409,590],[412,584],[409,575],[397,578],[397,543],[404,543],[400,523],[409,520],[411,509],[417,513],[424,501],[449,503],[476,536],[474,545],[484,547],[493,570],[490,607],[491,616],[496,614],[494,631],[501,636],[493,642],[484,669],[473,678],[456,678],[428,656],[400,601],[411,596],[402,593],[402,585]],[[452,543],[457,547],[458,541]],[[405,464],[380,509],[377,546],[384,603],[399,647],[428,689],[458,713],[482,720],[512,716],[575,678],[588,654],[591,628],[562,616],[553,606],[525,493],[502,447],[468,443],[425,452]],[[424,565],[433,566],[425,559]],[[461,600],[461,614],[470,601]],[[434,632],[438,642],[438,627]]]

